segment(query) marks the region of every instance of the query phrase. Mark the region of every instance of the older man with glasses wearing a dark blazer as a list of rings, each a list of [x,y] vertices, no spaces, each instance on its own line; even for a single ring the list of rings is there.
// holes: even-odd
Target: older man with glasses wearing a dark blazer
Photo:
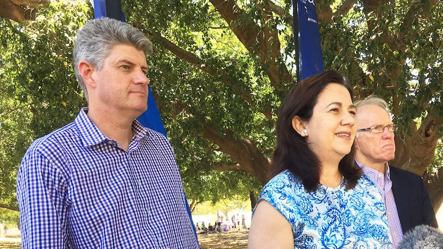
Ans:
[[[392,123],[386,102],[370,96],[355,106],[356,162],[381,191],[395,248],[414,226],[438,227],[434,209],[420,176],[388,164],[395,155],[397,125]]]

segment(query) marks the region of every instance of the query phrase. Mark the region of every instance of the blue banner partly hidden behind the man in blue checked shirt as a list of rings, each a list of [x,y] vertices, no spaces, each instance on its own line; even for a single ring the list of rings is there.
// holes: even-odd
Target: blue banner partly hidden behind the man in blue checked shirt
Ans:
[[[91,0],[91,3],[94,7],[95,18],[107,16],[109,18],[114,18],[116,20],[126,22],[123,16],[123,12],[121,11],[120,0]],[[137,118],[137,121],[140,122],[144,127],[156,130],[167,137],[166,132],[164,131],[163,122],[161,121],[160,112],[158,111],[154,96],[152,95],[151,86],[148,85],[147,87],[149,90],[149,94],[147,96],[147,110],[143,112],[140,117]],[[191,224],[194,224],[194,222],[192,221],[191,209],[189,208],[186,194],[184,194],[184,199],[186,202],[189,219],[191,220]],[[192,226],[192,228],[194,229],[194,234],[197,237],[195,226]]]

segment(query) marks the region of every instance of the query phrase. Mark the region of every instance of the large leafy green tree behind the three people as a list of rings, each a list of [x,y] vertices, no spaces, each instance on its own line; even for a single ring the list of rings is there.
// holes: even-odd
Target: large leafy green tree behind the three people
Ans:
[[[296,84],[291,2],[122,1],[127,21],[154,42],[151,86],[190,199],[248,191],[253,199],[269,180],[277,111]],[[3,20],[25,37],[10,56],[20,62],[13,89],[34,103],[35,136],[84,104],[69,49],[90,12],[58,8],[24,24]],[[392,163],[424,175],[438,208],[443,179],[427,168],[443,126],[442,4],[323,0],[317,11],[325,68],[344,74],[357,98],[375,93],[390,103],[401,127]]]

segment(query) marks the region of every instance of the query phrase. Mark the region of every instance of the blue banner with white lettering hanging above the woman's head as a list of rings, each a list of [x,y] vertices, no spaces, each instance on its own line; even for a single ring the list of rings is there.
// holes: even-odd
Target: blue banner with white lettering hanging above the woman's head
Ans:
[[[293,0],[297,81],[323,72],[323,54],[315,0]]]

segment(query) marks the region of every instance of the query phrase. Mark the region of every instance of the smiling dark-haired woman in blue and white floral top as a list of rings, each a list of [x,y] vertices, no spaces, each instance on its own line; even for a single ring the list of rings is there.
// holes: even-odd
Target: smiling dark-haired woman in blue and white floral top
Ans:
[[[392,248],[380,191],[354,163],[355,114],[335,71],[289,91],[248,248]]]

